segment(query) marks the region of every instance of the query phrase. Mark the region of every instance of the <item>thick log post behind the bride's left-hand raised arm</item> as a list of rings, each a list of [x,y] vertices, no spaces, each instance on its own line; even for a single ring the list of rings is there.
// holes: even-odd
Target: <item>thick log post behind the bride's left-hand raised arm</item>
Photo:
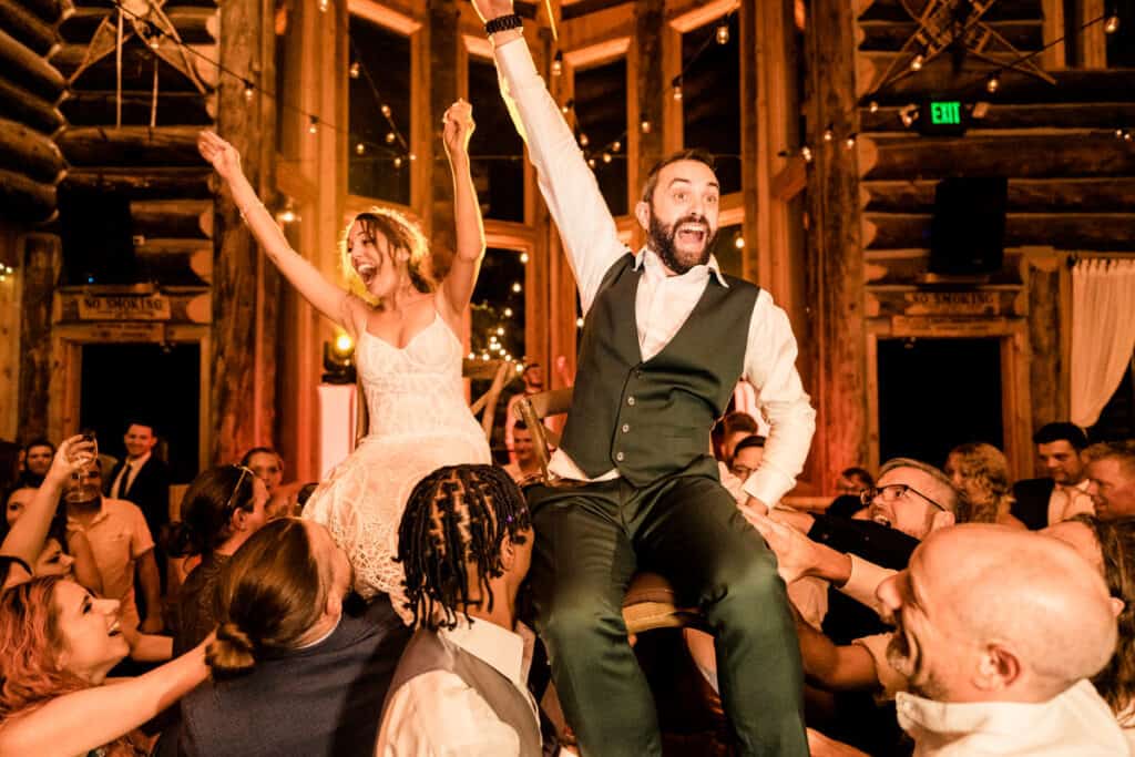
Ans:
[[[234,76],[220,79],[218,131],[241,153],[250,183],[263,192],[264,145],[275,146],[275,119],[261,102],[259,90],[272,87],[271,72],[263,68],[260,34],[271,33],[263,17],[262,0],[232,0],[221,5],[220,62],[253,85],[251,102],[245,82]],[[269,203],[272,197],[264,197]],[[215,463],[230,463],[264,438],[260,428],[271,418],[275,377],[264,370],[260,339],[262,312],[262,255],[241,222],[232,196],[217,196],[213,260],[213,325],[210,412]]]

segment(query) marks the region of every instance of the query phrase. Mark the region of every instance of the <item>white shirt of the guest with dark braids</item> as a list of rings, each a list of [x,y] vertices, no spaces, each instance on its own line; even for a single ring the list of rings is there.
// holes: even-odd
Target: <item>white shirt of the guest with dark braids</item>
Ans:
[[[528,671],[536,636],[523,624],[516,632],[488,621],[459,620],[438,634],[491,665],[520,690],[532,708]],[[460,676],[431,671],[406,681],[387,704],[378,733],[377,757],[508,757],[520,754],[520,737],[497,718],[488,703]]]

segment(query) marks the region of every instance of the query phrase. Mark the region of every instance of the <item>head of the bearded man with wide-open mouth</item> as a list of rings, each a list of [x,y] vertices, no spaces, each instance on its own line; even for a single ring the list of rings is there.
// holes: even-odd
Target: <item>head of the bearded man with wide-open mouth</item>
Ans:
[[[678,160],[658,171],[650,201],[640,202],[636,215],[650,249],[672,272],[708,262],[720,197],[717,176],[699,160]]]

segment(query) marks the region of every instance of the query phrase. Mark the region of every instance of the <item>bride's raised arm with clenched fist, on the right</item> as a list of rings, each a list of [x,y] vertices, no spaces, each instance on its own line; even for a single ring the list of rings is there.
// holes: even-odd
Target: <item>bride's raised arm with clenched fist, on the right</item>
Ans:
[[[461,319],[469,306],[473,287],[477,286],[477,272],[485,256],[485,225],[481,222],[481,207],[477,201],[469,166],[469,138],[473,135],[473,109],[464,100],[459,100],[445,111],[442,136],[445,153],[449,157],[449,170],[453,171],[457,247],[449,274],[442,283],[442,295],[455,321]]]

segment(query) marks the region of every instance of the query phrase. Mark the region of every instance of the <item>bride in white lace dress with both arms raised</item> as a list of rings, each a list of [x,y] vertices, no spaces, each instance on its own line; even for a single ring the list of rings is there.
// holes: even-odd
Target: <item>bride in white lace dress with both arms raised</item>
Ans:
[[[465,404],[464,350],[457,337],[485,254],[469,167],[472,133],[472,108],[459,100],[446,111],[443,129],[456,217],[449,272],[435,283],[421,230],[396,211],[373,208],[351,222],[342,241],[347,292],[288,246],[241,171],[236,150],[212,132],[197,140],[264,253],[355,342],[369,434],[311,495],[304,518],[326,525],[346,550],[355,589],[367,598],[389,595],[404,619],[410,615],[403,606],[403,573],[394,556],[410,491],[442,465],[491,462],[485,434]]]

